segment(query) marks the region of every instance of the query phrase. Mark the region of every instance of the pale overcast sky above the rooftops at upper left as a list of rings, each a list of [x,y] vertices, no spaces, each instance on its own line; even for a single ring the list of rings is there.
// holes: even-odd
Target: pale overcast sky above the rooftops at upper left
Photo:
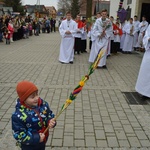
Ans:
[[[35,5],[37,2],[40,5],[45,5],[45,6],[55,6],[57,9],[57,1],[58,0],[22,0],[22,4],[30,4],[30,5]]]

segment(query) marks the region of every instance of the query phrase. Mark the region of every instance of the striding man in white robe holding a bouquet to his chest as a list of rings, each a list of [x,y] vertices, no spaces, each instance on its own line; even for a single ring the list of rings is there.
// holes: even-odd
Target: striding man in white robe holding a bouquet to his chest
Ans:
[[[112,23],[107,17],[107,10],[102,10],[102,17],[97,19],[94,27],[93,34],[96,36],[95,40],[95,54],[99,53],[100,49],[103,49],[103,57],[101,58],[97,68],[107,68],[106,58],[109,49],[110,37],[113,34]]]

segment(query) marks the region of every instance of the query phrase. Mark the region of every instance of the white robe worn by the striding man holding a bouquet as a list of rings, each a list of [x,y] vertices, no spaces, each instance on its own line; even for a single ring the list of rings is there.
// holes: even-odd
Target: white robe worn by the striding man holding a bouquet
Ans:
[[[102,34],[104,27],[103,24],[105,24],[105,22],[110,22],[111,26],[109,28],[107,28],[105,30],[105,36],[103,36],[101,39],[99,38],[99,36]],[[103,48],[103,57],[101,58],[98,66],[102,67],[106,65],[106,57],[107,57],[107,53],[108,53],[108,49],[109,49],[109,42],[110,42],[110,37],[113,34],[113,30],[112,30],[112,23],[109,19],[106,19],[105,21],[102,21],[102,18],[98,18],[94,24],[93,27],[93,34],[96,36],[96,40],[95,40],[95,55],[97,56],[99,50],[101,48]]]

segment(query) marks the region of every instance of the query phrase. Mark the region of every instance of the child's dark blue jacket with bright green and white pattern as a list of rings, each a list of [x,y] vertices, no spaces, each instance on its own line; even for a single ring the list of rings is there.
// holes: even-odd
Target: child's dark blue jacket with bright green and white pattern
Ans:
[[[38,106],[28,108],[17,100],[16,110],[12,114],[12,130],[14,138],[25,145],[36,145],[40,141],[39,132],[43,132],[50,119],[54,118],[46,101],[39,98]],[[48,132],[45,134],[47,141]]]

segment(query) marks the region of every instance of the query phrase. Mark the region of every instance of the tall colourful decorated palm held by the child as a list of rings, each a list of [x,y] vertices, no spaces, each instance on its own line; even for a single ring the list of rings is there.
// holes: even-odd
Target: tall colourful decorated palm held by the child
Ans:
[[[89,80],[90,75],[95,71],[97,68],[100,59],[104,57],[104,50],[101,48],[98,52],[97,57],[95,58],[94,63],[92,63],[89,67],[88,74],[85,75],[81,81],[79,82],[79,85],[73,90],[73,92],[70,94],[69,98],[66,100],[65,104],[63,104],[61,110],[58,112],[58,114],[55,116],[55,120],[60,116],[60,114],[76,99],[77,95],[81,92],[83,86],[85,85],[85,82]],[[44,133],[47,132],[49,127],[47,127],[44,131]]]

